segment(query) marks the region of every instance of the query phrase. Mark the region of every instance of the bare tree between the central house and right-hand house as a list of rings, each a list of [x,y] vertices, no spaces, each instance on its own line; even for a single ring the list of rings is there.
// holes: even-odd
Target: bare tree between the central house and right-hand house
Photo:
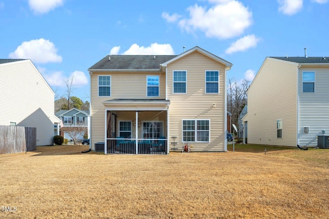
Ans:
[[[232,124],[239,130],[239,115],[247,104],[247,90],[249,81],[244,79],[238,83],[235,78],[228,79],[227,85],[227,110],[232,114]]]

